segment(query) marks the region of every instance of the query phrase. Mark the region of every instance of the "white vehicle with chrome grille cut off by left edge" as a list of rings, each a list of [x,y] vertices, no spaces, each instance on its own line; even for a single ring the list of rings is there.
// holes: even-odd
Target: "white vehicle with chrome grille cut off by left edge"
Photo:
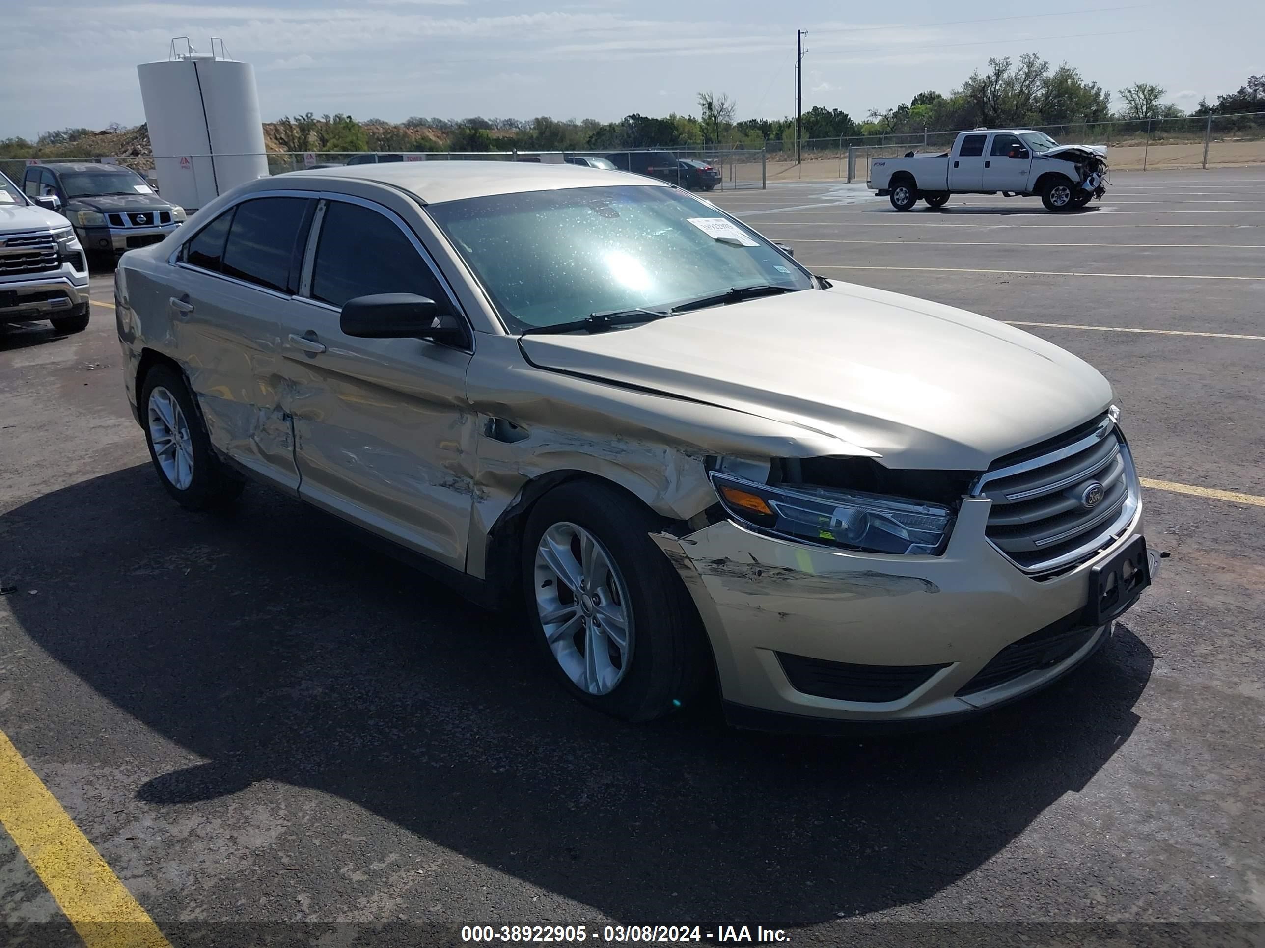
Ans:
[[[53,197],[27,197],[0,173],[0,325],[48,320],[87,329],[87,260]]]

